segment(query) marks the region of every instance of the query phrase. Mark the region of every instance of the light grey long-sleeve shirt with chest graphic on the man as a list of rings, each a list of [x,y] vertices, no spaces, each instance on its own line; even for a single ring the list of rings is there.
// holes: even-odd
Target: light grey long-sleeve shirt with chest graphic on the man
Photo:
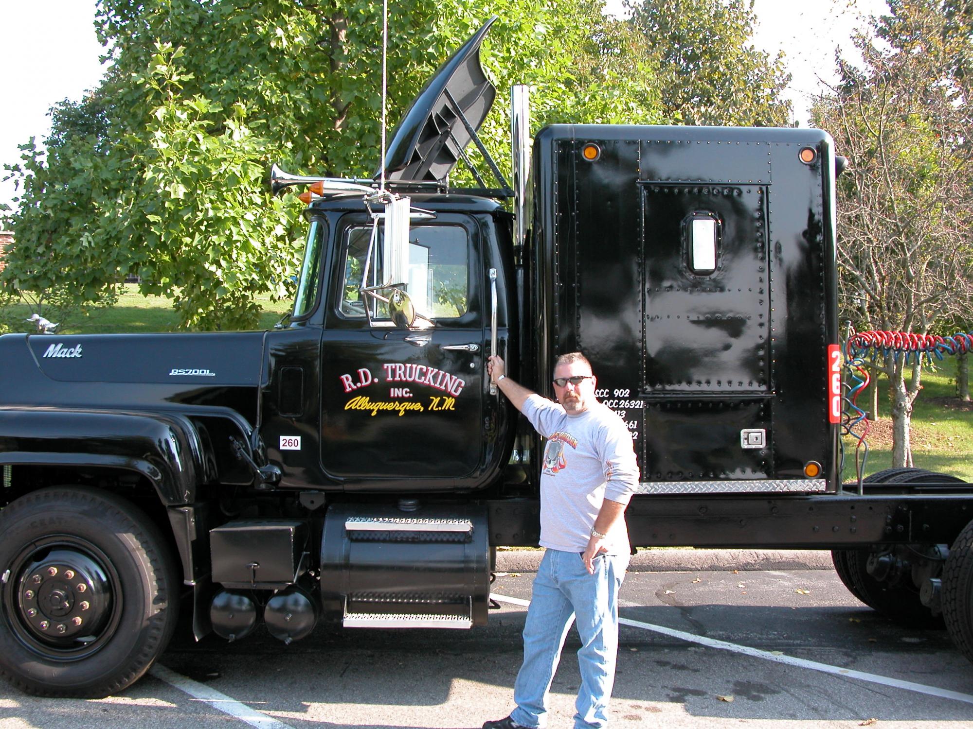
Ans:
[[[557,402],[531,395],[523,415],[545,438],[541,470],[540,544],[583,552],[604,499],[629,503],[638,484],[631,434],[600,402],[568,415]],[[604,541],[608,554],[628,554],[625,520]]]

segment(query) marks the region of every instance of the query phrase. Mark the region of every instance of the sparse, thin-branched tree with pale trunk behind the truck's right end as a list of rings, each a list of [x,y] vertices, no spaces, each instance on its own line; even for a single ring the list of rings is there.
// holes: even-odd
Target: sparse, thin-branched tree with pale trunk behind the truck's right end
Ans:
[[[841,83],[813,110],[849,168],[838,180],[843,316],[858,329],[918,333],[967,315],[973,150],[966,81],[969,50],[949,5],[889,3],[859,34],[864,65],[839,58]],[[911,466],[909,424],[921,367],[886,357],[893,465]]]

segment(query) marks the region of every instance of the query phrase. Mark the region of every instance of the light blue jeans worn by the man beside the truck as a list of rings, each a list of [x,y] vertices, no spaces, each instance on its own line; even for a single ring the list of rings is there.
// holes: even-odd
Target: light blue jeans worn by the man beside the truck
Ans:
[[[534,577],[523,626],[523,666],[514,684],[517,709],[510,716],[526,727],[544,727],[547,693],[560,650],[577,617],[581,687],[574,706],[575,729],[605,726],[618,656],[618,590],[629,555],[595,557],[589,574],[578,552],[548,549]]]

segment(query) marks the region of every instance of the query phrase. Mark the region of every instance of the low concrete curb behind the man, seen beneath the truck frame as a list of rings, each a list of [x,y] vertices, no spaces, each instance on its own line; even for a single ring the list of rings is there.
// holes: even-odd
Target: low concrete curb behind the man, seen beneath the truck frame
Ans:
[[[544,551],[497,551],[498,573],[535,573]],[[641,549],[631,558],[631,573],[758,572],[834,570],[826,549]]]

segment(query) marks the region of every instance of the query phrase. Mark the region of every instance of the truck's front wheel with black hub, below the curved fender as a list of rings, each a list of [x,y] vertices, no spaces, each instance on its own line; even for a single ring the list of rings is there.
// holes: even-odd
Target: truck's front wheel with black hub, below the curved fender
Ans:
[[[0,511],[0,676],[28,694],[101,698],[152,666],[172,636],[178,574],[131,503],[54,487]]]

